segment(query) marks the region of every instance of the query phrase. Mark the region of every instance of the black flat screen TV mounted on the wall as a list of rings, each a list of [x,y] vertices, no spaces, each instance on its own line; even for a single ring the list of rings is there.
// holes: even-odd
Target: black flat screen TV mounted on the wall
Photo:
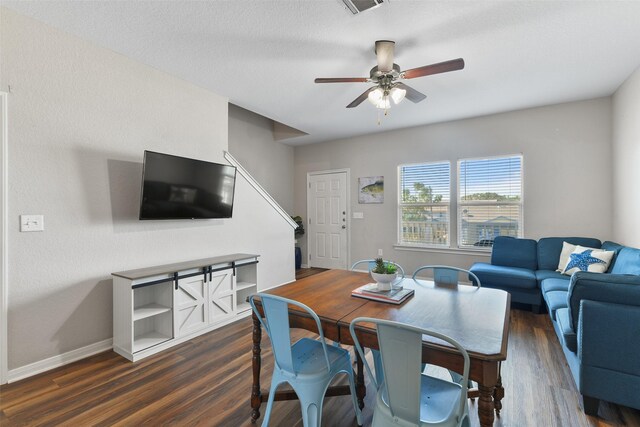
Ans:
[[[236,168],[144,152],[140,219],[231,218]]]

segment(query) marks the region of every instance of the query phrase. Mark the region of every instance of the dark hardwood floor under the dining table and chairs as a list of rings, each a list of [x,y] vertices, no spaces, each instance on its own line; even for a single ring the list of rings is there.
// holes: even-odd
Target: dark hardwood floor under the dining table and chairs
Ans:
[[[273,369],[267,338],[262,348],[265,389]],[[0,387],[0,425],[250,426],[250,351],[247,318],[136,363],[102,353]],[[496,426],[640,426],[640,411],[607,403],[600,404],[600,418],[584,415],[547,315],[512,311],[502,373],[505,398]],[[373,397],[369,386],[365,425]],[[476,402],[469,405],[477,426]],[[302,426],[298,402],[276,402],[271,421]],[[323,425],[356,425],[349,397],[326,398]]]

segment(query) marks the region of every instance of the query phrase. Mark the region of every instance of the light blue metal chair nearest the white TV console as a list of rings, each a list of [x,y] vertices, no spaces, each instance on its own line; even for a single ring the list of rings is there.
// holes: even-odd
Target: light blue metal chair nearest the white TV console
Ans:
[[[265,315],[264,320],[255,306],[256,296],[260,298]],[[327,345],[318,315],[302,303],[269,294],[251,295],[249,304],[269,335],[275,359],[269,400],[262,425],[265,427],[269,425],[275,392],[280,384],[287,382],[300,400],[304,427],[320,427],[324,395],[333,377],[339,373],[349,377],[351,400],[358,425],[362,425],[362,414],[356,402],[351,357],[347,350]],[[300,307],[309,313],[318,327],[319,340],[302,338],[291,344],[288,305]]]

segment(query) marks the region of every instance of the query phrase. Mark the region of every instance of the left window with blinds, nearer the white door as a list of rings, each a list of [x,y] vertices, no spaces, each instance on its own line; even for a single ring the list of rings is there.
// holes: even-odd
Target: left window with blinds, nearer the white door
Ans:
[[[449,162],[400,165],[398,243],[449,246]]]

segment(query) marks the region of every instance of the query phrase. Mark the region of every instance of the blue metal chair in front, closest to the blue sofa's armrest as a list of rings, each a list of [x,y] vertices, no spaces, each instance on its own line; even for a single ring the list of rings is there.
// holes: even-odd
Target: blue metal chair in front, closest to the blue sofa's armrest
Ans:
[[[364,358],[355,327],[373,323],[378,333],[385,380],[378,383]],[[446,335],[389,320],[358,317],[349,326],[356,350],[364,361],[367,374],[377,390],[373,427],[439,426],[468,427],[467,381],[469,355]],[[448,342],[464,358],[462,383],[421,374],[422,336],[430,335]]]

